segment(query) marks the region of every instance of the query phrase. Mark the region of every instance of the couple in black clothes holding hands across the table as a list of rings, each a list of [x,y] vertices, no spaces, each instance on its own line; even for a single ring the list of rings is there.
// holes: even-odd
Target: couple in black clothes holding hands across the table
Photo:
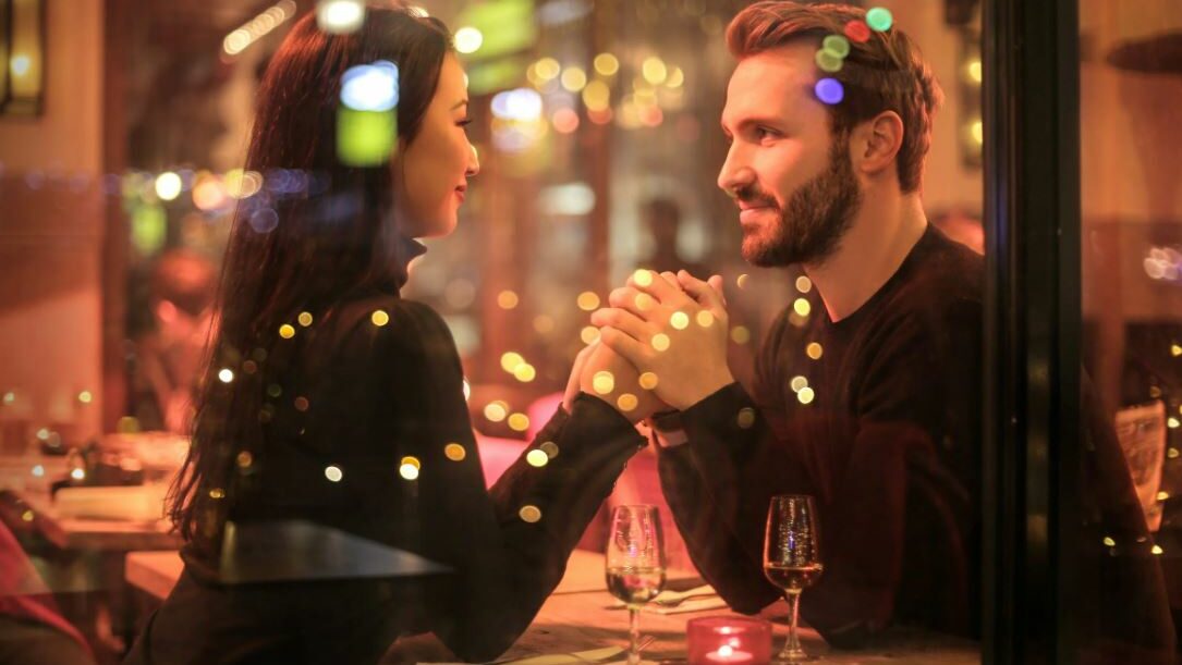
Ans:
[[[721,278],[638,270],[593,314],[599,341],[527,451],[548,462],[522,455],[489,490],[452,335],[398,294],[424,250],[413,239],[455,228],[480,169],[450,33],[388,6],[350,34],[298,21],[261,83],[246,168],[331,185],[275,194],[278,226],[236,215],[171,496],[186,571],[128,663],[375,663],[426,631],[462,658],[494,658],[650,443],[642,418],[689,554],[735,609],[780,596],[761,566],[768,500],[808,494],[825,574],[801,613],[826,639],[864,644],[892,622],[974,635],[982,260],[923,214],[939,85],[902,31],[865,18],[772,0],[727,31],[738,65],[719,187],[738,206],[743,257],[800,265],[813,315],[786,306],[742,386],[726,364]],[[342,77],[377,61],[398,69],[397,145],[378,167],[350,167],[336,154]],[[225,582],[228,523],[290,520],[452,572]]]

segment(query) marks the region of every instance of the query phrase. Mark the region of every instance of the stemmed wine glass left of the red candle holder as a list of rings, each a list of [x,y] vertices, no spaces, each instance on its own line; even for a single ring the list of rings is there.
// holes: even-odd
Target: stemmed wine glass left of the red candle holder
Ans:
[[[664,587],[661,514],[655,506],[617,506],[608,537],[608,591],[628,605],[628,665],[641,661],[641,606]]]

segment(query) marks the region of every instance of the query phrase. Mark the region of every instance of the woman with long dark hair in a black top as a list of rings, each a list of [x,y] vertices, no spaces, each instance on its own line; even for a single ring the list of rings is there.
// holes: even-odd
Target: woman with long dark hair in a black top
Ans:
[[[398,67],[397,148],[379,168],[350,168],[336,154],[340,82],[375,61]],[[450,233],[479,170],[467,122],[463,72],[435,19],[370,8],[358,32],[330,35],[305,17],[280,46],[247,169],[268,184],[311,174],[329,187],[268,187],[238,210],[171,498],[186,568],[129,663],[374,663],[423,631],[462,658],[491,659],[558,583],[644,442],[580,395],[535,442],[548,463],[522,457],[485,490],[448,330],[398,298],[423,252],[410,239]],[[284,574],[252,568],[229,535],[269,526],[292,536],[284,547],[314,549],[299,535],[309,524],[450,572],[348,579],[348,566],[303,560],[299,579],[274,581]],[[286,563],[277,556],[277,569]]]

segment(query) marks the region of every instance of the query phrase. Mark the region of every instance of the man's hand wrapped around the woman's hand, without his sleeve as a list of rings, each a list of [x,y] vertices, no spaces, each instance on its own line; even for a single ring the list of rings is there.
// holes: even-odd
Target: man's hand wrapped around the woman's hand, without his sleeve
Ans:
[[[664,403],[683,410],[734,383],[721,276],[704,282],[686,270],[637,270],[608,301],[591,315],[602,345],[631,363],[641,385]]]

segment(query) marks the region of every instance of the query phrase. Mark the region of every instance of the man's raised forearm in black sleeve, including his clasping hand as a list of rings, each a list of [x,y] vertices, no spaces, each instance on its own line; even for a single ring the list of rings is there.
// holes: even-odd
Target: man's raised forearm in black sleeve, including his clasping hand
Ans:
[[[684,272],[639,270],[609,301],[611,308],[592,315],[604,326],[604,345],[649,377],[657,397],[682,410],[654,424],[667,443],[689,439],[662,448],[658,468],[690,556],[732,607],[758,612],[779,596],[764,578],[761,546],[767,502],[782,485],[738,490],[766,428],[726,364],[721,278],[702,282]]]

